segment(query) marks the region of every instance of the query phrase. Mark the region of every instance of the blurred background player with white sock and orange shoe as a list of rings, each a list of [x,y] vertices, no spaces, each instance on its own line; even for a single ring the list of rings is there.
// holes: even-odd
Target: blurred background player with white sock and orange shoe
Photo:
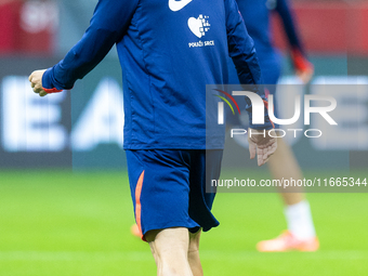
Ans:
[[[244,16],[249,35],[254,40],[263,81],[276,84],[281,71],[281,56],[272,43],[270,19],[276,13],[282,22],[290,45],[290,53],[297,76],[306,83],[313,76],[313,65],[307,61],[301,44],[288,0],[236,0]],[[236,71],[231,74],[231,83],[236,83]],[[275,86],[267,86],[270,93],[275,93]],[[277,117],[277,107],[275,106]],[[228,119],[234,117],[228,116]],[[239,122],[231,121],[233,124]],[[282,139],[278,140],[278,149],[268,162],[274,179],[302,179],[302,172],[291,148]],[[293,187],[292,192],[295,192]],[[288,229],[275,239],[257,245],[260,251],[315,251],[319,247],[311,208],[303,190],[290,193],[289,188],[280,194],[285,202],[285,215]]]

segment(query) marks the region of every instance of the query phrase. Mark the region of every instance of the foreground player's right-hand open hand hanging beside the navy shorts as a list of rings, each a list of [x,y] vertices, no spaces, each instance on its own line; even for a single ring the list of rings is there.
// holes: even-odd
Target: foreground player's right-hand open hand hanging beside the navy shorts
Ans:
[[[268,131],[248,129],[248,142],[250,159],[254,159],[257,153],[258,166],[266,163],[276,152],[277,139],[268,135]]]

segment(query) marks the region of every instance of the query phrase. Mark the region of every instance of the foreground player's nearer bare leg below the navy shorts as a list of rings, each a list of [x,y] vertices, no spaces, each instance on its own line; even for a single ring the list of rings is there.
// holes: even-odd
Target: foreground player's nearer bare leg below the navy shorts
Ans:
[[[154,254],[158,276],[193,276],[188,262],[187,228],[149,231],[145,237]]]

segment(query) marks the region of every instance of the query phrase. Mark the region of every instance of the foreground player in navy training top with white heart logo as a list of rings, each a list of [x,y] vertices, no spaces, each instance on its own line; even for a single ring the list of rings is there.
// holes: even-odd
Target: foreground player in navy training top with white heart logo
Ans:
[[[34,91],[44,96],[71,89],[115,43],[140,233],[158,275],[202,275],[200,232],[219,225],[211,213],[215,194],[206,193],[206,183],[219,179],[225,134],[215,116],[206,115],[219,101],[206,98],[206,84],[228,81],[227,55],[241,83],[260,83],[253,41],[235,0],[100,0],[90,27],[64,60],[29,76]],[[252,87],[264,98],[264,91]],[[209,124],[216,128],[207,133]],[[267,113],[263,124],[250,126],[253,133],[273,128]],[[264,165],[276,143],[268,135],[250,136],[251,158],[257,152]]]

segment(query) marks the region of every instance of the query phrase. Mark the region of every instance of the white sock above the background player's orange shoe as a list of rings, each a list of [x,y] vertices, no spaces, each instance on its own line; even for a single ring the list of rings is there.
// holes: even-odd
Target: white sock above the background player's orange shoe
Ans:
[[[286,206],[284,212],[288,231],[297,238],[308,239],[316,236],[308,201]]]

